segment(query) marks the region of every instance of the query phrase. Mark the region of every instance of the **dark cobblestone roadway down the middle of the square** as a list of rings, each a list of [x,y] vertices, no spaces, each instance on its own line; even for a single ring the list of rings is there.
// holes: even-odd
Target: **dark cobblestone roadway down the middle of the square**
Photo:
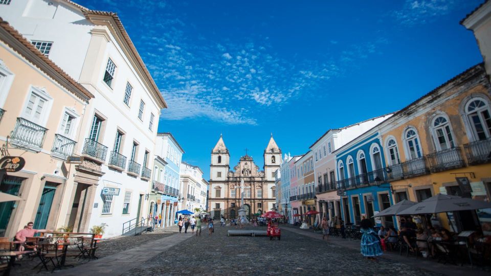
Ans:
[[[229,229],[235,228],[218,226],[212,236],[203,232],[123,275],[438,275],[393,260],[369,261],[359,249],[291,231],[283,230],[280,241],[270,241],[267,237],[227,237]]]

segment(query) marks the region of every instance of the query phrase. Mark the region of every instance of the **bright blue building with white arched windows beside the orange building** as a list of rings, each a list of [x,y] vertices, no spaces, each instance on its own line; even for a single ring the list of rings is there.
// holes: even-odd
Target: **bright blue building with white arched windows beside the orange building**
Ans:
[[[365,217],[376,226],[393,226],[395,217],[372,218],[393,204],[380,132],[372,128],[333,153],[345,223],[359,225]]]

